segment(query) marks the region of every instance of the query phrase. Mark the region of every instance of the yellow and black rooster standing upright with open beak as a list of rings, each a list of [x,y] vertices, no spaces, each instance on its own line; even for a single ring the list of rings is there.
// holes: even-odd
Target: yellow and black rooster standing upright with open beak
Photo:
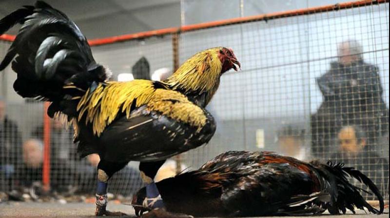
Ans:
[[[85,36],[65,14],[37,1],[1,19],[0,34],[18,22],[0,70],[12,61],[15,91],[51,102],[48,115],[73,125],[80,155],[100,156],[96,215],[120,215],[106,210],[108,180],[129,161],[140,161],[148,208],[156,209],[149,216],[168,216],[153,178],[167,158],[213,136],[215,122],[204,107],[220,76],[240,66],[233,51],[202,51],[164,82],[106,82],[109,70],[95,62]]]

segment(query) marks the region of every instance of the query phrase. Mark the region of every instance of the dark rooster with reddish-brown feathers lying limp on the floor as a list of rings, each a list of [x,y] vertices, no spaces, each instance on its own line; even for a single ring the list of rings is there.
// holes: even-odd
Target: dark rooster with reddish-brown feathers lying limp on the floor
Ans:
[[[363,182],[376,195],[380,210],[361,196],[347,178]],[[360,171],[343,164],[305,163],[270,152],[229,151],[198,170],[157,182],[168,211],[195,217],[257,217],[353,213],[354,207],[381,214],[379,190]],[[175,188],[172,188],[175,187]],[[134,196],[136,214],[148,210],[145,188]]]

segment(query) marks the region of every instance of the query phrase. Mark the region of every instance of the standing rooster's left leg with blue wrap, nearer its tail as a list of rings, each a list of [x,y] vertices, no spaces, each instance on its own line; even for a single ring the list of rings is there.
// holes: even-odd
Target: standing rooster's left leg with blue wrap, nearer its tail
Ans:
[[[98,164],[98,187],[96,190],[96,216],[122,216],[121,212],[110,212],[106,210],[108,203],[107,186],[108,180],[127,163],[112,163],[100,160]]]

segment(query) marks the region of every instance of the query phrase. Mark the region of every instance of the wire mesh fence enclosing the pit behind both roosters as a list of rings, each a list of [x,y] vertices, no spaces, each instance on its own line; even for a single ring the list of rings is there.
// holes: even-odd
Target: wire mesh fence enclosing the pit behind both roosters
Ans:
[[[296,12],[178,36],[178,53],[172,35],[93,47],[96,60],[110,67],[114,80],[122,73],[139,78],[139,72],[149,76],[147,79],[163,79],[174,71],[175,55],[182,63],[215,46],[233,48],[242,63],[241,72],[221,77],[207,107],[217,123],[209,145],[173,158],[180,164],[170,162],[165,169],[171,170],[161,173],[169,171],[170,176],[176,168],[197,168],[227,150],[271,150],[301,160],[332,160],[354,166],[389,199],[388,2],[310,14]],[[8,46],[0,43],[0,57]],[[146,61],[139,62],[142,57]],[[135,68],[139,63],[146,67]],[[5,100],[16,96],[8,71],[8,77],[3,73],[1,78]],[[31,147],[39,151],[35,154],[26,144],[29,139],[42,138],[43,106],[18,101],[5,101],[5,114],[16,121],[21,137],[17,143],[3,143],[12,141],[13,136],[6,127],[0,131],[1,190],[16,184],[10,178],[41,178],[39,167],[23,171],[22,166],[34,165],[28,161],[40,158],[34,155],[41,154],[42,145],[33,142],[37,145]],[[57,121],[51,125],[52,187],[94,193],[98,157],[78,160],[72,133]],[[10,147],[18,148],[14,155],[8,151]],[[11,157],[16,157],[14,163]],[[9,165],[15,166],[14,171]],[[142,185],[136,163],[115,176],[109,192],[131,195]]]

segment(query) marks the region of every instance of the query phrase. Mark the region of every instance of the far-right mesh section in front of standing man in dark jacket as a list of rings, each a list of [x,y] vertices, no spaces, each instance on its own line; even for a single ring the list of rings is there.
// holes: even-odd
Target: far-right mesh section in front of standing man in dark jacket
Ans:
[[[388,6],[311,15],[307,44],[313,156],[362,170],[387,198]]]

